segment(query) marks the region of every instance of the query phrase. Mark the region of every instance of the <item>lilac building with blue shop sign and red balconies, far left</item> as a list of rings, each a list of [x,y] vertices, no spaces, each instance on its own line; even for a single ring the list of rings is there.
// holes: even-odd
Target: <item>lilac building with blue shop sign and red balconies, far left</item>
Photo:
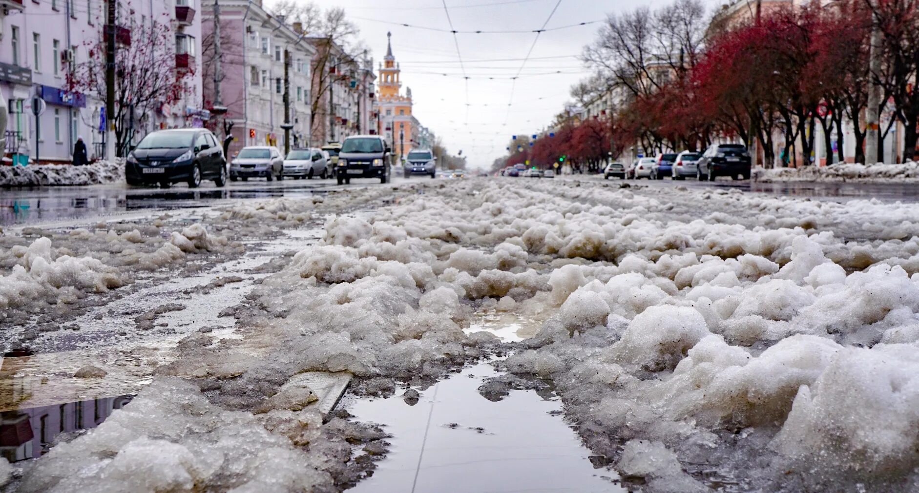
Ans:
[[[210,117],[201,107],[196,76],[200,73],[201,18],[196,15],[200,2],[119,0],[116,5],[119,50],[129,50],[132,39],[135,47],[143,43],[141,33],[155,32],[169,39],[164,56],[175,61],[165,70],[183,80],[181,94],[169,104],[137,108],[127,124],[128,144],[153,129],[201,125]],[[11,110],[7,155],[70,162],[74,143],[82,136],[90,157],[102,157],[105,95],[84,86],[76,88],[81,84],[73,76],[78,67],[92,63],[90,52],[102,42],[105,6],[103,0],[0,0],[0,91]],[[36,97],[46,106],[38,118],[32,114]]]

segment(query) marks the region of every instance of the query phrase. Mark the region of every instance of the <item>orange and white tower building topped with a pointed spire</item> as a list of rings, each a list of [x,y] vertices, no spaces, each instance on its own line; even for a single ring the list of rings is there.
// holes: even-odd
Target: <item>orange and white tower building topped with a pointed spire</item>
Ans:
[[[412,116],[412,89],[402,94],[401,70],[392,55],[392,34],[387,33],[386,57],[380,66],[376,112],[380,116],[380,135],[390,142],[392,154],[399,161],[414,147],[416,121]]]

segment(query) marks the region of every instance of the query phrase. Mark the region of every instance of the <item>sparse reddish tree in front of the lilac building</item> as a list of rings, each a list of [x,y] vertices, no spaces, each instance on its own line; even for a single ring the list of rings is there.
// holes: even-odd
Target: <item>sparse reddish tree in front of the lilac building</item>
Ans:
[[[115,58],[115,108],[106,108],[108,121],[115,126],[116,152],[127,154],[133,140],[136,119],[143,120],[162,105],[172,105],[190,92],[187,81],[195,64],[177,69],[176,37],[163,22],[133,24],[130,42],[120,46]],[[67,73],[72,91],[106,94],[106,42],[103,30],[97,39],[86,43],[89,57]]]

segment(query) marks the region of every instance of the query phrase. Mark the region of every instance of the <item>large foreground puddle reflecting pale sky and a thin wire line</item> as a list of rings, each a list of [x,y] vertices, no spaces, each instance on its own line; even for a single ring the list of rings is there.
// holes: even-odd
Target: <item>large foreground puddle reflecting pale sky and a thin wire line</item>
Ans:
[[[392,438],[373,476],[348,491],[626,491],[614,484],[615,472],[591,465],[590,451],[559,416],[559,398],[533,390],[512,390],[498,402],[479,395],[482,381],[497,375],[490,364],[472,366],[419,390],[414,406],[399,395],[352,400],[357,420],[385,423]]]

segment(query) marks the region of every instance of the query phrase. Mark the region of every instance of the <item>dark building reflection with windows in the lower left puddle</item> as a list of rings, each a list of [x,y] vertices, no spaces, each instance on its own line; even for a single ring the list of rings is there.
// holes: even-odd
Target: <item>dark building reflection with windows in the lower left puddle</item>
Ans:
[[[0,457],[17,462],[47,454],[59,434],[96,428],[131,398],[96,398],[0,412]]]

